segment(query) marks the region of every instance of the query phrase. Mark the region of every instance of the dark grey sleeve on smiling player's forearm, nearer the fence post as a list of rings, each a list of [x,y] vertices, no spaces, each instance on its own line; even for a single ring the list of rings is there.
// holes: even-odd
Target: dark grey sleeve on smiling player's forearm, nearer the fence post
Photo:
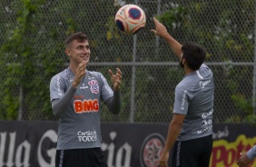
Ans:
[[[121,111],[121,93],[120,91],[113,91],[113,97],[109,98],[105,105],[108,107],[109,111],[113,114],[120,113]]]

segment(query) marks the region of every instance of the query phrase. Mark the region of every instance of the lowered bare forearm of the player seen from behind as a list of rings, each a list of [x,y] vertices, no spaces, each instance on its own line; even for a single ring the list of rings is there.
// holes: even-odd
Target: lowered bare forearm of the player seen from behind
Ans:
[[[167,138],[162,151],[163,153],[170,151],[170,149],[172,148],[172,145],[176,141],[181,130],[182,130],[182,124],[172,123],[172,122],[170,123]]]

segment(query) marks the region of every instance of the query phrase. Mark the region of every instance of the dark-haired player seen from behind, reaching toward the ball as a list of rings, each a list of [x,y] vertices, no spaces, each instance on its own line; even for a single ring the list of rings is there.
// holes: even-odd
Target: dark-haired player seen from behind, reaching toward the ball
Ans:
[[[214,83],[211,69],[203,64],[201,45],[180,44],[156,18],[152,32],[161,36],[180,60],[185,75],[175,88],[172,122],[160,158],[160,167],[206,167],[212,154]],[[169,151],[170,152],[169,156]],[[168,162],[169,159],[169,162]]]

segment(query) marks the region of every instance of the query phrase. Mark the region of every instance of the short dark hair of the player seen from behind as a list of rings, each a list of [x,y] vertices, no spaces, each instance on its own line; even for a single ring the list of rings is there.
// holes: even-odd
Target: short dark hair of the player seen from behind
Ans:
[[[206,52],[200,44],[188,41],[182,45],[182,54],[192,70],[198,70],[204,62]]]

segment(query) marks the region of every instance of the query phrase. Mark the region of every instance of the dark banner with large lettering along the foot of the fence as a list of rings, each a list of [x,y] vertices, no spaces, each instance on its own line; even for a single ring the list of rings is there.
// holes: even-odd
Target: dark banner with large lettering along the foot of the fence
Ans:
[[[109,167],[157,167],[169,124],[102,123]],[[235,167],[256,144],[256,126],[214,124],[211,167]],[[0,167],[54,167],[57,123],[0,122]],[[251,163],[251,167],[256,162]]]

